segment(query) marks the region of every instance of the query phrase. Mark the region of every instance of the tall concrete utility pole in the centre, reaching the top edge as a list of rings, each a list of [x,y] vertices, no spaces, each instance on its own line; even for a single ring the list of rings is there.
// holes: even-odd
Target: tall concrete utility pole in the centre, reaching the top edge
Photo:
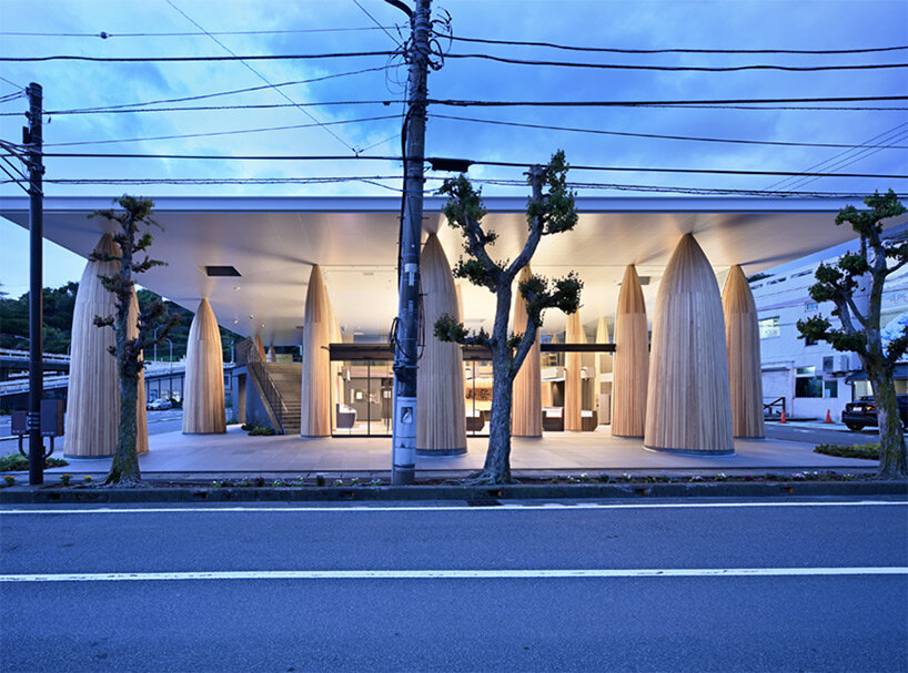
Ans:
[[[416,359],[420,333],[420,243],[423,228],[423,164],[428,72],[431,0],[416,0],[412,39],[410,106],[404,119],[404,203],[401,222],[397,338],[394,349],[392,483],[413,483],[416,469]]]

